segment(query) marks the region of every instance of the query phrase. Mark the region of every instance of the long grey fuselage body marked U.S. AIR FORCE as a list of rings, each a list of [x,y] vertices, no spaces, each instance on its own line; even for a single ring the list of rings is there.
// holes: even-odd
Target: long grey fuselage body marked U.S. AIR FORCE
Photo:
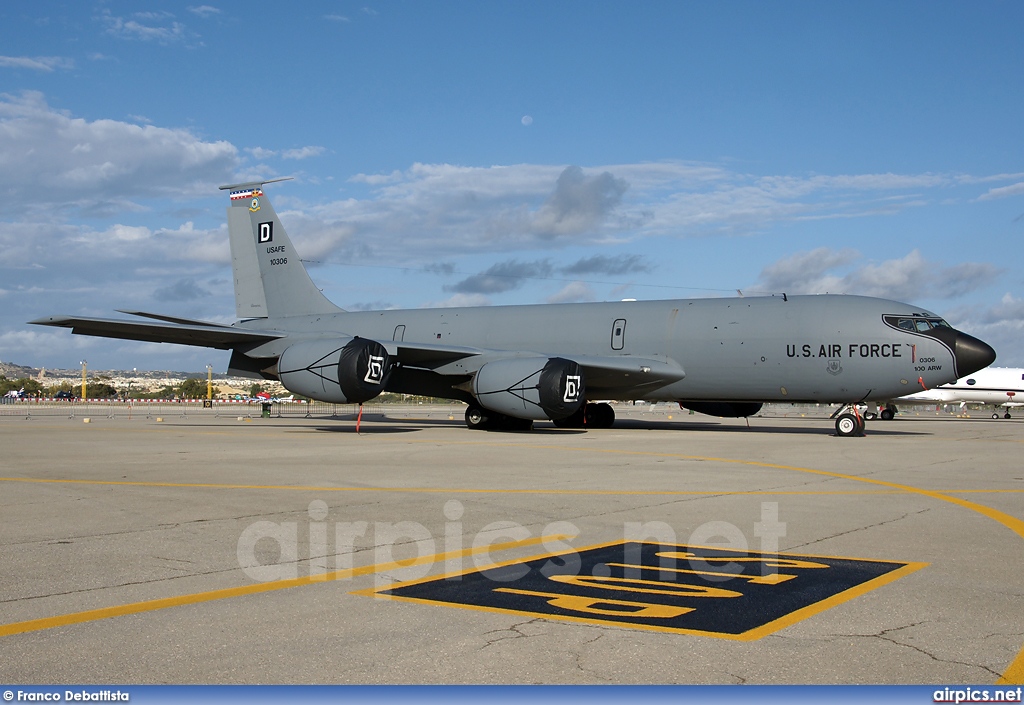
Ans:
[[[351,312],[287,323],[292,340],[337,333],[515,356],[635,356],[685,373],[655,388],[640,378],[610,386],[589,380],[592,399],[851,402],[956,379],[955,343],[886,322],[893,318],[938,319],[896,301],[820,295]],[[240,325],[271,323],[282,321]],[[453,365],[437,371],[457,373]]]

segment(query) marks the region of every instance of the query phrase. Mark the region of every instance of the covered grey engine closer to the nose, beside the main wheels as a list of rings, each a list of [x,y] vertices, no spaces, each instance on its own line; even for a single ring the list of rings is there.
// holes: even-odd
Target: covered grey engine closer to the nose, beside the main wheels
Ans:
[[[521,419],[563,419],[586,401],[583,371],[564,358],[509,358],[486,363],[473,377],[485,409]]]

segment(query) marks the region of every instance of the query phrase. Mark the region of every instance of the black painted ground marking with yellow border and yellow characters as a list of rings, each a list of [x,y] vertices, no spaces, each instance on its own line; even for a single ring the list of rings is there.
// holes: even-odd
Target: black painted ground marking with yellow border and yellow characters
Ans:
[[[621,541],[359,593],[749,640],[926,565]]]

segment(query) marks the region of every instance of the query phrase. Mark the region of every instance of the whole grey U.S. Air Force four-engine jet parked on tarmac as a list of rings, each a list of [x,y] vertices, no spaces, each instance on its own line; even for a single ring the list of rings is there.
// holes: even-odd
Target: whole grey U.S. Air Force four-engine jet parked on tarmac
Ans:
[[[282,179],[274,179],[282,180]],[[382,391],[461,400],[470,428],[607,427],[596,400],[678,402],[723,417],[765,402],[857,404],[952,382],[995,351],[918,306],[844,295],[346,312],[309,279],[257,181],[221,186],[234,275],[230,326],[51,316],[83,335],[231,350],[228,372],[296,395],[361,404]]]

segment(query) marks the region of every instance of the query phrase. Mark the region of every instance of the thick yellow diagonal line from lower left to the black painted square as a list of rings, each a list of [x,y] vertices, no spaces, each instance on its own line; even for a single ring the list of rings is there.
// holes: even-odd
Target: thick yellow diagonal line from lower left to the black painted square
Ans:
[[[387,571],[393,571],[400,568],[411,568],[413,566],[422,566],[424,564],[436,563],[436,562],[441,562],[443,564],[445,561],[452,558],[464,557],[467,555],[474,555],[477,553],[483,553],[488,551],[500,551],[500,550],[508,550],[510,548],[532,546],[539,543],[543,543],[545,541],[555,541],[565,538],[567,537],[539,536],[536,538],[525,539],[523,541],[496,543],[489,546],[481,546],[479,548],[464,548],[458,551],[445,551],[443,553],[434,553],[433,555],[419,556],[416,558],[409,558],[406,561],[392,561],[380,565],[364,566],[360,568],[333,571],[330,573],[322,573],[317,575],[308,575],[308,576],[303,576],[301,578],[289,578],[287,580],[272,580],[265,583],[240,585],[238,587],[227,587],[219,590],[210,590],[208,592],[195,592],[193,594],[178,595],[176,597],[162,597],[160,599],[148,599],[141,603],[129,603],[128,605],[116,605],[114,607],[104,607],[98,610],[73,612],[67,615],[57,615],[56,617],[31,619],[25,622],[13,622],[11,624],[0,625],[0,637],[11,636],[13,634],[24,634],[25,632],[29,631],[41,631],[43,629],[52,629],[54,627],[62,627],[69,624],[94,622],[100,619],[110,619],[111,617],[122,617],[124,615],[135,615],[143,612],[155,612],[157,610],[166,610],[168,608],[180,607],[182,605],[198,605],[200,603],[209,603],[215,599],[226,599],[228,597],[241,597],[242,595],[259,594],[260,592],[284,590],[290,587],[302,587],[304,585],[323,584],[325,582],[330,582],[332,580],[350,580],[355,577],[371,575],[374,573],[384,573]]]

